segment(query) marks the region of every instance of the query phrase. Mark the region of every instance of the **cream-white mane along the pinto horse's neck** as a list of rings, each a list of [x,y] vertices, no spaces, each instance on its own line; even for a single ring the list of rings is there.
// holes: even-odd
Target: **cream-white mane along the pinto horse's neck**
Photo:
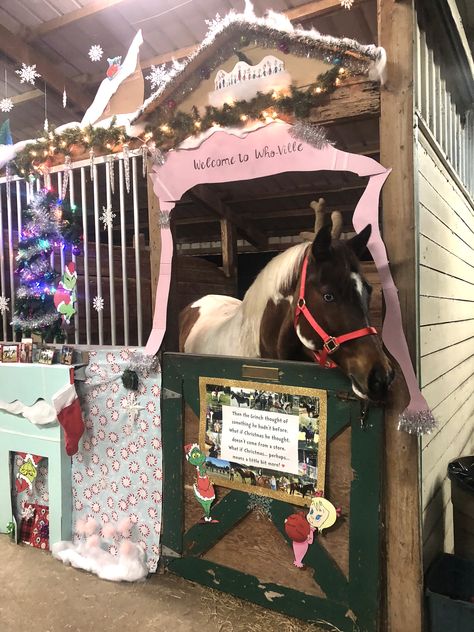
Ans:
[[[259,349],[260,322],[268,301],[275,303],[287,296],[287,290],[298,278],[308,242],[288,248],[268,263],[247,290],[242,301],[242,336]],[[285,293],[282,292],[285,290]]]

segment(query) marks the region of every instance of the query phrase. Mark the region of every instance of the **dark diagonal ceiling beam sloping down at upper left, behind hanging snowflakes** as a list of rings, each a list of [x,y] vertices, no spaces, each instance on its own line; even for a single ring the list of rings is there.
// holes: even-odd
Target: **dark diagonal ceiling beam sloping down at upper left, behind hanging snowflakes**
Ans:
[[[62,94],[66,88],[68,99],[82,112],[85,112],[91,104],[92,97],[89,98],[83,87],[77,86],[71,79],[67,79],[56,64],[51,62],[45,55],[19,39],[0,24],[0,52],[4,53],[17,64],[36,64],[37,71],[41,74],[42,80],[50,87]]]

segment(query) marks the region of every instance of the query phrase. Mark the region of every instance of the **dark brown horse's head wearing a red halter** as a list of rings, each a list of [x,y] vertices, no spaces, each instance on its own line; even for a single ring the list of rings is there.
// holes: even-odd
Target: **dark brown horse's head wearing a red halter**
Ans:
[[[324,359],[327,356],[348,375],[356,395],[383,402],[394,370],[369,323],[372,288],[359,258],[370,233],[369,224],[341,241],[332,232],[332,222],[318,227],[293,304],[296,334],[305,353],[314,356],[322,349]]]

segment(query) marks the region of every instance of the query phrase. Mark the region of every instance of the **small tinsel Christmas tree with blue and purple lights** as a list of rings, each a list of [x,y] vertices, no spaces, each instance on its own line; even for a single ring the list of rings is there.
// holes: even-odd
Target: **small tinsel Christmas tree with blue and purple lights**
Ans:
[[[81,232],[78,218],[50,191],[39,191],[24,212],[18,243],[20,286],[16,292],[12,324],[24,335],[38,333],[44,340],[64,339],[63,319],[54,304],[59,274],[51,265],[55,246],[72,245],[79,253]]]

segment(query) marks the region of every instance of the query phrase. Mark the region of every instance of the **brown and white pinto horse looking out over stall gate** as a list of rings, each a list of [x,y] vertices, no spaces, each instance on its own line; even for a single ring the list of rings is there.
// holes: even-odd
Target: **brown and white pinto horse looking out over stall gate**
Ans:
[[[180,351],[322,364],[329,357],[356,395],[386,400],[394,371],[369,326],[371,287],[359,265],[371,226],[348,241],[333,239],[331,228],[272,259],[243,301],[210,294],[185,307]]]

